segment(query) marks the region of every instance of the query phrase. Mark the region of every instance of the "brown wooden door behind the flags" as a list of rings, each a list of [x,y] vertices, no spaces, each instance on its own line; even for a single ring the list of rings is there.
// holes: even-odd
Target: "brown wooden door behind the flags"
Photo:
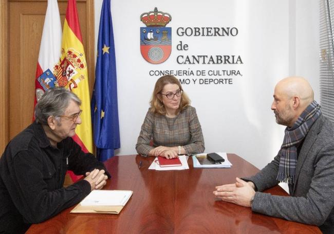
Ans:
[[[59,0],[62,25],[67,1]],[[46,0],[1,0],[0,154],[32,122],[36,64]],[[77,0],[89,87],[94,85],[94,1]],[[90,92],[91,93],[91,92]]]

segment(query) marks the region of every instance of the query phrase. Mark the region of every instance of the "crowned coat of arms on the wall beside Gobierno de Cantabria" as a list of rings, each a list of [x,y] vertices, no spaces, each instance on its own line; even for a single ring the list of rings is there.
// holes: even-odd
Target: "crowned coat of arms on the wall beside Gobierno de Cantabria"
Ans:
[[[154,8],[154,11],[142,13],[140,20],[147,26],[140,27],[141,55],[149,63],[163,63],[172,51],[172,28],[165,27],[172,16]]]

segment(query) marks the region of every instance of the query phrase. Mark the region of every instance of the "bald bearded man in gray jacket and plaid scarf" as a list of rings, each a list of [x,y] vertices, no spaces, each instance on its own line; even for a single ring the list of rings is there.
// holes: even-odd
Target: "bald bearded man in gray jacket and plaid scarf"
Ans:
[[[310,84],[301,77],[276,84],[271,110],[276,122],[287,126],[281,149],[254,176],[217,186],[215,196],[334,233],[334,126],[313,96]],[[280,182],[288,183],[290,196],[262,192]]]

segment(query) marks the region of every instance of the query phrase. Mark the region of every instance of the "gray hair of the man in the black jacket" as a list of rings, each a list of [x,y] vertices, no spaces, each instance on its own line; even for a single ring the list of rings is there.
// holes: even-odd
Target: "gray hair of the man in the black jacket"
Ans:
[[[63,115],[70,100],[81,105],[78,96],[63,87],[50,88],[43,94],[35,106],[35,120],[38,123],[47,125],[50,116],[57,117]]]

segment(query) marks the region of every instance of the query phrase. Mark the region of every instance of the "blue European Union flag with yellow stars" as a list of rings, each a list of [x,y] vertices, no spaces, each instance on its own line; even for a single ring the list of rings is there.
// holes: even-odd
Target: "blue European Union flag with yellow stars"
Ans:
[[[97,156],[105,161],[120,148],[115,45],[110,0],[103,0],[91,119]]]

